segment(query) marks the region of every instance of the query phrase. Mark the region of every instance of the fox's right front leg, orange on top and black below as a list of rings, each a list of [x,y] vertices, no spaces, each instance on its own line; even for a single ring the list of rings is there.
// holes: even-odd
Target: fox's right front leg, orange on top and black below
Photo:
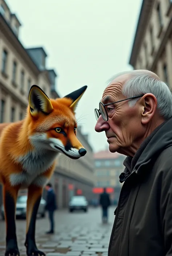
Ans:
[[[28,188],[28,200],[26,211],[26,254],[28,256],[44,256],[45,253],[38,250],[35,242],[36,216],[40,205],[42,188],[30,185]]]

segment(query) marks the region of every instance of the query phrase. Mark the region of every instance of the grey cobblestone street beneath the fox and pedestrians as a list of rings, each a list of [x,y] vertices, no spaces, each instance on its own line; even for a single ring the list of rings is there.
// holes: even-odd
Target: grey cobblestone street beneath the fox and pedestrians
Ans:
[[[107,256],[108,243],[114,222],[116,206],[108,209],[108,224],[102,224],[101,208],[89,208],[88,212],[58,210],[55,214],[55,234],[46,235],[49,220],[37,219],[37,247],[47,256]],[[17,239],[20,256],[25,256],[25,220],[16,220]],[[5,252],[5,222],[0,220],[0,256]]]

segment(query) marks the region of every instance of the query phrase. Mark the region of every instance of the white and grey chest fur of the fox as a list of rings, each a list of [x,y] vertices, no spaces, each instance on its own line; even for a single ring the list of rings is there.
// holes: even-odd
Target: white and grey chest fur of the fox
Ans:
[[[39,153],[30,152],[25,156],[16,159],[23,168],[23,172],[10,175],[10,183],[12,186],[21,184],[22,188],[28,187],[30,184],[44,186],[47,182],[45,171],[52,166],[57,157],[58,152],[44,150]]]

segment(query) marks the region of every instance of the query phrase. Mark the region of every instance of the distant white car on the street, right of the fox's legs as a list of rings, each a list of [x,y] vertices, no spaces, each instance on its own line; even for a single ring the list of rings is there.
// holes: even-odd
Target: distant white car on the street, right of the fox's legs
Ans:
[[[87,212],[88,202],[85,196],[73,196],[69,202],[69,211],[73,212],[74,210],[83,210]]]

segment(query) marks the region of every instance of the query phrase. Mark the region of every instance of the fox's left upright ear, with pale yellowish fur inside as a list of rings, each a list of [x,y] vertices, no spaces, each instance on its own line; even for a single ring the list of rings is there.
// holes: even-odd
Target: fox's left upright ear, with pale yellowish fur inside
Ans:
[[[29,91],[29,105],[30,105],[30,114],[32,116],[38,115],[40,112],[48,115],[52,112],[53,106],[44,93],[44,91],[37,85],[32,85]]]

